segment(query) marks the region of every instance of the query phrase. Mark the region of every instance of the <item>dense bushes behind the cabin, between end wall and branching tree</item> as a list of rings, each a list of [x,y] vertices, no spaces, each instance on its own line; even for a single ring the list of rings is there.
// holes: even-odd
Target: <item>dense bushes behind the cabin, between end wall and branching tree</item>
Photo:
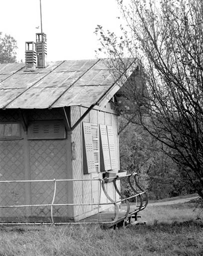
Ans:
[[[120,117],[121,126],[125,119]],[[160,199],[193,190],[180,182],[178,165],[161,150],[161,143],[138,124],[128,124],[120,134],[121,169],[137,172],[138,181],[147,190],[150,199]],[[130,196],[128,182],[122,180],[122,192]]]

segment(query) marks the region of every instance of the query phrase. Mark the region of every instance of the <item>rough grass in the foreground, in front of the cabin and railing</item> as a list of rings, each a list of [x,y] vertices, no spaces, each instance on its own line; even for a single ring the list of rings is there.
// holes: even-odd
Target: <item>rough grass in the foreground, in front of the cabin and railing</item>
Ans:
[[[93,225],[2,227],[0,256],[203,256],[203,212],[194,203],[151,206],[146,225],[103,230]]]

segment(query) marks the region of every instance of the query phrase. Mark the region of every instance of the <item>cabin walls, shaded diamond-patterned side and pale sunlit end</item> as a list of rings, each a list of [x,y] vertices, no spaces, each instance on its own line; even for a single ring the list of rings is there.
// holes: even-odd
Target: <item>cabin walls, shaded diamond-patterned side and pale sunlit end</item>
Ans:
[[[87,110],[71,107],[71,125]],[[114,113],[92,109],[83,119],[85,122],[112,125],[115,134],[116,155],[119,164],[118,116]],[[27,122],[33,120],[63,119],[61,109],[26,109],[22,111]],[[0,122],[21,121],[17,109],[0,110]],[[102,173],[83,174],[82,122],[66,139],[28,139],[21,124],[21,139],[0,140],[0,180],[23,179],[81,179],[98,177]],[[119,165],[117,170],[119,169]],[[109,195],[115,199],[113,183],[105,184]],[[0,184],[0,205],[51,203],[54,183],[4,183]],[[57,183],[55,203],[98,203],[98,181],[74,181]],[[117,199],[118,199],[117,195]],[[101,202],[108,202],[101,193]],[[73,218],[90,215],[97,206],[54,207],[55,217]],[[50,207],[0,208],[3,217],[50,217]],[[2,221],[2,219],[1,219]]]

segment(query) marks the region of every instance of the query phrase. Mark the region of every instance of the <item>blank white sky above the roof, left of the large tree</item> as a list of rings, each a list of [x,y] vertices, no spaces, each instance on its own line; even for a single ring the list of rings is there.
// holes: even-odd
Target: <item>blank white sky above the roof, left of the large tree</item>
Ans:
[[[41,0],[41,4],[47,60],[95,58],[96,25],[119,30],[116,0]],[[0,0],[0,31],[17,40],[17,60],[24,62],[25,41],[35,41],[35,33],[41,31],[39,0]]]

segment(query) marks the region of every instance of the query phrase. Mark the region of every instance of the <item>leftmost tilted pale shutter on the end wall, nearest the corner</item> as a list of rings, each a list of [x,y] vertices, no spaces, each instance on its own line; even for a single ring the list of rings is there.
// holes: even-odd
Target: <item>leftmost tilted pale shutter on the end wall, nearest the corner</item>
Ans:
[[[83,122],[83,166],[84,173],[95,172],[91,124]]]

